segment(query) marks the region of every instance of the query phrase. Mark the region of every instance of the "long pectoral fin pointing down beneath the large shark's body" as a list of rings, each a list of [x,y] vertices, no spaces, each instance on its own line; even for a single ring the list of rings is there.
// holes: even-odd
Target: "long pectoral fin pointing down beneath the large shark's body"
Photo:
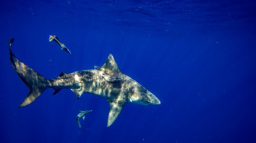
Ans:
[[[110,127],[111,124],[116,120],[119,113],[121,113],[121,109],[126,104],[126,99],[121,99],[120,97],[118,97],[117,99],[108,99],[107,101],[110,104],[107,127]]]

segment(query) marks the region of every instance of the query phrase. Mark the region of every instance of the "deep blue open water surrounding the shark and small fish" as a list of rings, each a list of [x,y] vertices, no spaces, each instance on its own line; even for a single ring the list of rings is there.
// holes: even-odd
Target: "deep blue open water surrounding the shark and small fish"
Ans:
[[[256,142],[256,2],[1,1],[0,142]],[[65,53],[49,35],[57,35]],[[13,53],[46,78],[102,66],[121,71],[160,105],[126,104],[107,127],[107,99],[28,88]],[[78,110],[92,109],[79,130]]]

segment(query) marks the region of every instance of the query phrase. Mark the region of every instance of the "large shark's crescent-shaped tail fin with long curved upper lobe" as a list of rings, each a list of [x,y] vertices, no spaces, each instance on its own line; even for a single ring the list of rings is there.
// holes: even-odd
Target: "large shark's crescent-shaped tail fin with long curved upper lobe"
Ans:
[[[41,76],[39,73],[30,67],[27,67],[26,64],[17,59],[17,57],[12,53],[13,40],[14,39],[12,38],[9,42],[10,61],[12,62],[12,66],[17,72],[18,76],[20,76],[21,80],[30,89],[26,99],[24,99],[19,106],[23,107],[35,101],[49,86],[50,82],[44,76]]]

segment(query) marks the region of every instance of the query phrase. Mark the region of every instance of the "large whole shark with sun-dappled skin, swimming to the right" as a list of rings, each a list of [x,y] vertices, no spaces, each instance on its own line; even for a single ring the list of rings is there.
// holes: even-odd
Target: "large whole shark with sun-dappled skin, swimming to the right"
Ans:
[[[54,95],[61,89],[70,89],[77,98],[80,98],[83,92],[86,92],[107,99],[110,104],[107,127],[110,127],[126,103],[160,104],[159,99],[144,86],[121,73],[111,54],[102,67],[72,73],[62,72],[58,77],[47,80],[44,76],[27,67],[12,53],[12,42],[13,39],[10,40],[9,45],[12,66],[30,89],[20,107],[31,104],[47,88],[54,89]]]

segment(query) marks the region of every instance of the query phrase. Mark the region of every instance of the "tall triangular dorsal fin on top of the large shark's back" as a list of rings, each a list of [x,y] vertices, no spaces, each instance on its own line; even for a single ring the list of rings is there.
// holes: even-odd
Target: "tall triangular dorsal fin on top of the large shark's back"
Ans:
[[[102,67],[99,67],[98,69],[99,70],[111,70],[116,73],[121,72],[116,64],[114,57],[111,54],[108,55],[107,61],[104,63],[104,65]]]

